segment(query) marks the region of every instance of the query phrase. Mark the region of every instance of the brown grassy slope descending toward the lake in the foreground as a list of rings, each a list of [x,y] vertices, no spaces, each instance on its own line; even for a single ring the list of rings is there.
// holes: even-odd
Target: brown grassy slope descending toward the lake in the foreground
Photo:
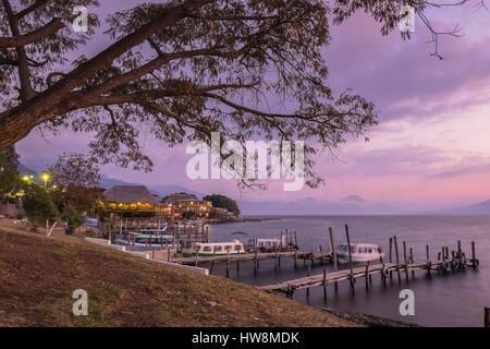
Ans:
[[[88,316],[73,316],[73,290]],[[0,326],[348,326],[295,301],[89,244],[0,228]]]

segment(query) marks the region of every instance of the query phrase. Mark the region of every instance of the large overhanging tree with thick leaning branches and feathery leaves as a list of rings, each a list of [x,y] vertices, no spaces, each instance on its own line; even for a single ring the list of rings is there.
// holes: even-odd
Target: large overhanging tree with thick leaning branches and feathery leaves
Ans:
[[[466,2],[466,1],[463,1]],[[149,170],[140,139],[299,139],[307,184],[321,183],[314,156],[376,124],[373,105],[328,86],[321,49],[330,24],[365,10],[382,33],[399,9],[422,0],[169,0],[109,15],[112,40],[94,57],[72,59],[96,33],[71,28],[73,9],[97,0],[1,0],[0,147],[34,128],[95,135],[102,164]],[[108,40],[107,40],[108,41]],[[278,106],[278,107],[271,107]],[[145,130],[143,134],[142,130]]]

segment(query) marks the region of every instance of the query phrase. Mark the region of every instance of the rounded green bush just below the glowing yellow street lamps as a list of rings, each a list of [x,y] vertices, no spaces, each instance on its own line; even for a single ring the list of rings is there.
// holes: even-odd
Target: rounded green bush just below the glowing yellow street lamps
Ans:
[[[60,214],[48,193],[41,186],[30,184],[26,189],[22,204],[33,229],[37,230],[39,226],[46,224],[46,232],[49,234],[49,221],[57,219]]]

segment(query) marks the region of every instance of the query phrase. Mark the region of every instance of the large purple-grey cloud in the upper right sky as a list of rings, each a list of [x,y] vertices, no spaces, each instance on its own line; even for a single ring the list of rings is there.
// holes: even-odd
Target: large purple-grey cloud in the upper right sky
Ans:
[[[377,23],[357,14],[334,27],[332,44],[324,49],[330,84],[338,92],[353,88],[369,98],[381,120],[426,118],[488,103],[490,37],[441,39],[442,61],[430,56],[433,44],[427,39],[424,27],[411,40],[396,31],[383,37]]]

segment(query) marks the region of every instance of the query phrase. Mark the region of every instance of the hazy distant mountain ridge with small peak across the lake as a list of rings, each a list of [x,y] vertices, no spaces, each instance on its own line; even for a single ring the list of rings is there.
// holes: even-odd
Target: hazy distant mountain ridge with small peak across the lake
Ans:
[[[400,207],[371,203],[360,196],[339,202],[323,202],[311,197],[289,203],[242,201],[238,206],[244,215],[388,215],[404,212]]]

